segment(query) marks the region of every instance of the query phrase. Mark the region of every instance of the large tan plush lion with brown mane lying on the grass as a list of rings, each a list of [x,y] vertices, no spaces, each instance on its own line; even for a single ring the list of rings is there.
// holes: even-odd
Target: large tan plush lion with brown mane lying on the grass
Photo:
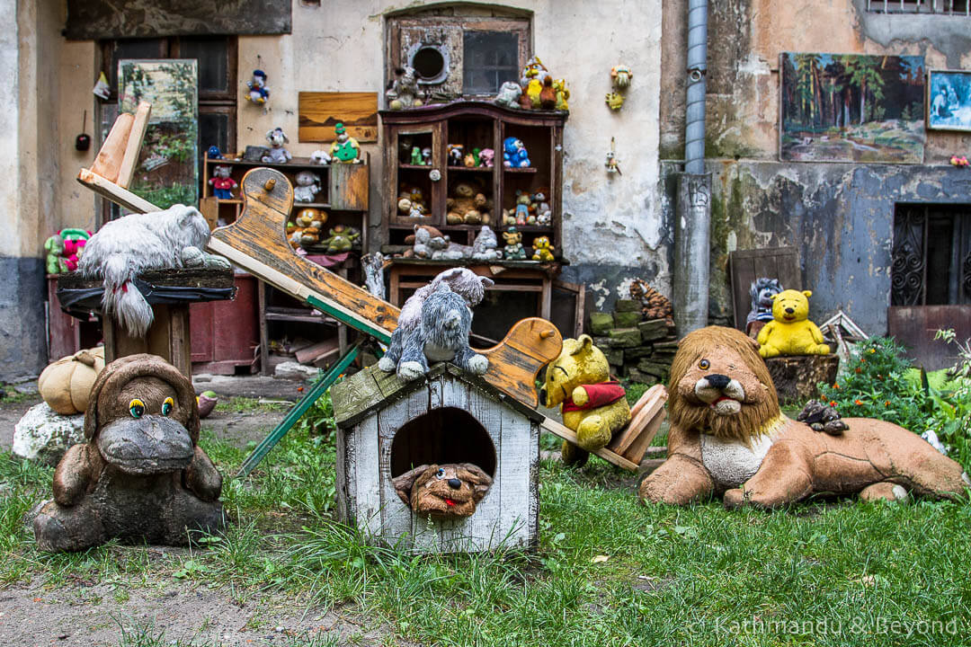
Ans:
[[[844,418],[840,436],[788,419],[752,339],[711,326],[681,340],[671,367],[668,459],[644,480],[644,501],[776,508],[813,495],[908,492],[955,499],[971,481],[920,436],[881,420]]]

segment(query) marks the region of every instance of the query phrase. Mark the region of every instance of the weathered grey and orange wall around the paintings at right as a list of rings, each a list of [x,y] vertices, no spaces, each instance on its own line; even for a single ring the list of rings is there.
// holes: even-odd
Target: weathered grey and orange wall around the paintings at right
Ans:
[[[713,322],[729,324],[732,316],[730,251],[794,245],[800,287],[814,291],[814,317],[842,308],[868,333],[885,334],[894,203],[971,203],[968,174],[947,163],[971,149],[968,135],[928,131],[923,165],[778,161],[783,51],[921,54],[929,69],[971,68],[969,18],[886,16],[864,7],[865,0],[709,3]],[[684,155],[686,11],[686,0],[665,2],[660,149],[670,206]]]

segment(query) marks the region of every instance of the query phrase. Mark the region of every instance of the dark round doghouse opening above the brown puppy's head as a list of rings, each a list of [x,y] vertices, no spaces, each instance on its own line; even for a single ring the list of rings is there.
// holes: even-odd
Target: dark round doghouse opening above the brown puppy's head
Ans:
[[[482,423],[453,406],[409,420],[391,441],[391,476],[419,465],[472,463],[495,476],[495,446]]]

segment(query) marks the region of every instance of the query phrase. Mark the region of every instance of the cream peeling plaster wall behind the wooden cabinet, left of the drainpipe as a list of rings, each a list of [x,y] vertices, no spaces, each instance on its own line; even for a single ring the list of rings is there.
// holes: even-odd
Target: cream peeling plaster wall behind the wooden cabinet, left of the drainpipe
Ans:
[[[419,1],[407,7],[434,4]],[[563,183],[563,252],[572,265],[563,278],[586,282],[601,295],[594,298],[595,307],[609,307],[619,284],[631,276],[652,280],[670,294],[657,164],[660,0],[514,0],[502,6],[534,12],[533,50],[554,76],[566,78],[572,95]],[[333,0],[315,9],[294,0],[291,35],[240,37],[240,94],[252,69],[259,67],[269,75],[271,100],[266,110],[241,102],[238,146],[264,144],[266,131],[277,126],[289,135],[294,155],[324,146],[297,143],[297,93],[383,91],[384,16],[404,7],[380,0]],[[604,95],[611,89],[610,69],[620,62],[631,66],[634,82],[623,110],[611,113]],[[612,136],[617,138],[620,178],[609,177],[604,169]],[[377,228],[380,148],[362,148],[371,153],[370,217]]]

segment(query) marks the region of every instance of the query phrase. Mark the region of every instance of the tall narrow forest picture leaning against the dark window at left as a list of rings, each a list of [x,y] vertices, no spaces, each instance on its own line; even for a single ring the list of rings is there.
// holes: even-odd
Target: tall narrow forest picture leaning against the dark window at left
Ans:
[[[198,79],[194,58],[118,61],[118,112],[151,103],[129,190],[162,209],[199,202]]]

